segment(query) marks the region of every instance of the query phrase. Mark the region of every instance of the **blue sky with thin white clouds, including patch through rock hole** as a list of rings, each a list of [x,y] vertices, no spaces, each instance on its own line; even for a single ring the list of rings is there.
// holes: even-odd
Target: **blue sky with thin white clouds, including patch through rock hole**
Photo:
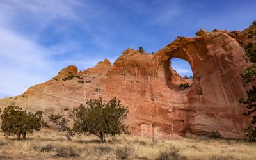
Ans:
[[[156,52],[199,29],[243,30],[256,1],[1,0],[0,97],[19,95],[61,68],[112,63],[128,47]],[[188,63],[172,63],[181,75]]]

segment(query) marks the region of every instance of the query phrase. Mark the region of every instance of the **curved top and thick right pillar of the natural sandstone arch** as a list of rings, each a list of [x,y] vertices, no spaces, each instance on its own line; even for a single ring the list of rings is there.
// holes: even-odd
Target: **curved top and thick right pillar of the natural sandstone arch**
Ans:
[[[170,88],[170,81],[173,81],[168,71],[170,59],[181,58],[191,65],[193,84],[185,102],[188,111],[185,116],[184,113],[177,116],[178,121],[187,124],[182,132],[208,134],[210,129],[221,128],[225,136],[227,132],[228,136],[234,136],[228,131],[230,125],[241,131],[248,124],[248,119],[241,115],[244,108],[238,103],[245,95],[239,71],[246,62],[244,49],[235,39],[218,32],[196,38],[179,37],[157,54],[161,57],[159,64],[164,67],[166,84]]]

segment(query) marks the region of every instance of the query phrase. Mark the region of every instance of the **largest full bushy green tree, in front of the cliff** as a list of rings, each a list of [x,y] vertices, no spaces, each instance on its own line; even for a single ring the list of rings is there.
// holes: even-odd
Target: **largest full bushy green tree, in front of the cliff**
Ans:
[[[102,99],[90,99],[86,105],[73,109],[74,130],[78,134],[93,134],[104,143],[106,134],[113,137],[128,133],[124,125],[128,110],[116,97],[106,104],[102,103]]]

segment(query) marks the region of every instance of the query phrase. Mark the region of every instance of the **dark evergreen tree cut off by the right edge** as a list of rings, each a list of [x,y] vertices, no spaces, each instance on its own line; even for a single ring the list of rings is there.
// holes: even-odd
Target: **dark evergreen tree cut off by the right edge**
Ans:
[[[246,140],[255,141],[256,140],[256,86],[252,84],[255,81],[256,76],[256,43],[248,43],[246,45],[246,56],[252,63],[249,67],[244,69],[240,75],[243,79],[244,86],[248,86],[246,91],[247,99],[240,99],[241,104],[245,104],[248,111],[243,113],[243,115],[252,115],[252,125],[246,127],[244,132],[246,133]],[[249,85],[250,84],[250,85]]]

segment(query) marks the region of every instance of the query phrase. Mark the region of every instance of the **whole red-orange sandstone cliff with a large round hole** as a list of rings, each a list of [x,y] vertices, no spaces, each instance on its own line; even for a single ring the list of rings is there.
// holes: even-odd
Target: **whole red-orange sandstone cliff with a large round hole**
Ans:
[[[196,138],[219,131],[228,138],[241,138],[241,130],[250,124],[238,102],[246,96],[239,76],[248,65],[242,46],[246,37],[248,30],[201,30],[195,38],[179,36],[155,54],[127,49],[113,65],[104,60],[83,72],[74,66],[64,68],[22,95],[1,99],[0,107],[15,104],[45,115],[68,116],[86,99],[118,97],[129,108],[125,123],[132,134]],[[193,81],[172,70],[172,58],[189,62]],[[181,83],[191,86],[180,89]]]

